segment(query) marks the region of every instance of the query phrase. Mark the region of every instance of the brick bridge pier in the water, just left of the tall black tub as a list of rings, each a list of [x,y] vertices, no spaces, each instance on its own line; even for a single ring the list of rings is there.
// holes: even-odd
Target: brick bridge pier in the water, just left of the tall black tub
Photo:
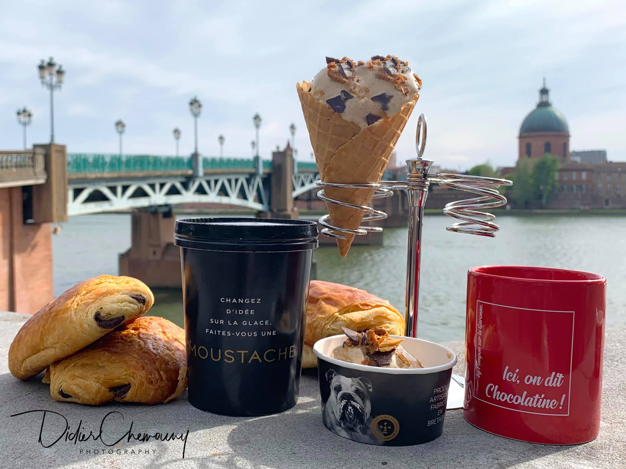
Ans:
[[[173,244],[175,221],[171,207],[134,210],[131,246],[120,254],[120,275],[149,286],[180,287],[180,250]]]

